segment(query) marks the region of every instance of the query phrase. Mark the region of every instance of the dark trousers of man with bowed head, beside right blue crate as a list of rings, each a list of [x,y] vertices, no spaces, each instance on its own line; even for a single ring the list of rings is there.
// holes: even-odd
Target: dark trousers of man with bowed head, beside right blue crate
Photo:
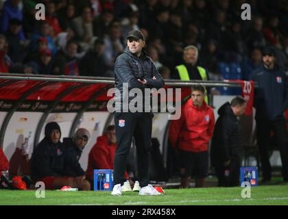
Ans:
[[[215,173],[218,179],[218,186],[231,187],[239,185],[241,159],[238,157],[231,158],[230,164],[214,164]]]

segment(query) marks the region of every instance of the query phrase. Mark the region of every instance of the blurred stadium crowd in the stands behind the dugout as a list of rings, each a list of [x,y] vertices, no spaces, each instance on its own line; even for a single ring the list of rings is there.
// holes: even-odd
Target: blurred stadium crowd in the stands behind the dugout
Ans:
[[[45,4],[45,21],[35,18],[36,3]],[[241,20],[243,3],[251,21]],[[287,25],[287,1],[2,0],[0,72],[113,77],[125,36],[140,29],[165,79],[194,45],[210,79],[247,80],[267,45],[288,69]]]

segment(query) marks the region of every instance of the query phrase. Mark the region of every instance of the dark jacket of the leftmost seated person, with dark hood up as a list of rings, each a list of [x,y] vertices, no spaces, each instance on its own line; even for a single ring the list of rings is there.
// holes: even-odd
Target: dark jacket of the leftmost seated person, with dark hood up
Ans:
[[[53,144],[44,138],[34,149],[31,157],[31,177],[33,180],[43,177],[60,177],[63,174],[62,143]]]

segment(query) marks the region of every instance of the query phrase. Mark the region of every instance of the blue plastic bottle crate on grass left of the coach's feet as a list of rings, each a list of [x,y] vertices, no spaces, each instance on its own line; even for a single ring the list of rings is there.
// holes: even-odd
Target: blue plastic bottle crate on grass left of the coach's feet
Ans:
[[[113,170],[94,170],[94,191],[111,191]]]

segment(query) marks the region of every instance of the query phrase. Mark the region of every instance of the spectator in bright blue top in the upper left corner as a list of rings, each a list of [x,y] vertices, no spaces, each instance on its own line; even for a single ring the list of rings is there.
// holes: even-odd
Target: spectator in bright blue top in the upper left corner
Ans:
[[[4,2],[0,14],[0,34],[4,34],[8,30],[9,21],[12,18],[17,18],[19,21],[23,20],[22,10],[19,8],[21,0],[8,0]],[[23,29],[19,32],[21,40],[25,40]]]

